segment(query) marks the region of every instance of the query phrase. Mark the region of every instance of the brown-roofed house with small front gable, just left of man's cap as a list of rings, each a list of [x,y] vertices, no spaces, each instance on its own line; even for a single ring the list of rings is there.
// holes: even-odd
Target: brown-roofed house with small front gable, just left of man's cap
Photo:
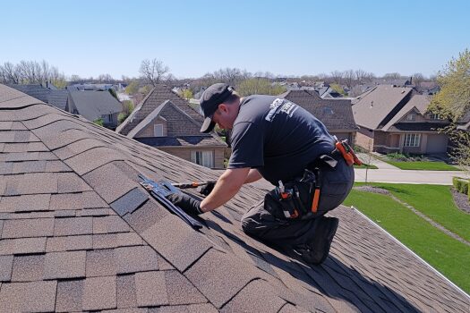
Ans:
[[[201,133],[201,123],[186,100],[159,84],[116,131],[193,163],[223,168],[226,143]]]

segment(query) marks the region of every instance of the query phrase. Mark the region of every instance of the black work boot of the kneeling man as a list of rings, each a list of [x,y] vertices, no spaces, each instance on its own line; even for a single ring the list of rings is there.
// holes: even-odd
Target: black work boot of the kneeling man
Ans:
[[[316,229],[312,241],[295,249],[299,257],[309,265],[320,265],[328,258],[329,247],[339,223],[338,218],[325,216],[318,217],[315,222]]]

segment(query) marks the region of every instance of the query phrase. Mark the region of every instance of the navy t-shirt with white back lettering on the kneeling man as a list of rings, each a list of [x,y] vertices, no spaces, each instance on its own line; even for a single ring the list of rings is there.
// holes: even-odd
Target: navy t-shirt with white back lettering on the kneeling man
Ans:
[[[231,134],[228,168],[256,168],[273,184],[288,181],[322,154],[334,150],[327,128],[286,99],[244,97]]]

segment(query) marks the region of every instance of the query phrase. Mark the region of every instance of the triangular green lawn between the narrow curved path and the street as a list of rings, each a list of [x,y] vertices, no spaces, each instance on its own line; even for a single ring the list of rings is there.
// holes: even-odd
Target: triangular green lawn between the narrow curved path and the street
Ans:
[[[398,199],[431,217],[452,233],[470,241],[470,215],[456,207],[450,186],[384,182],[371,184],[389,190]]]

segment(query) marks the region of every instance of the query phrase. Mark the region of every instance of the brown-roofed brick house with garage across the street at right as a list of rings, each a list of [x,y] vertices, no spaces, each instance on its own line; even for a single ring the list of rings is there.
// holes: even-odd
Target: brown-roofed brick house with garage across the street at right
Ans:
[[[428,114],[430,98],[407,87],[379,85],[357,97],[353,106],[359,126],[356,144],[380,153],[446,153],[449,122]]]

